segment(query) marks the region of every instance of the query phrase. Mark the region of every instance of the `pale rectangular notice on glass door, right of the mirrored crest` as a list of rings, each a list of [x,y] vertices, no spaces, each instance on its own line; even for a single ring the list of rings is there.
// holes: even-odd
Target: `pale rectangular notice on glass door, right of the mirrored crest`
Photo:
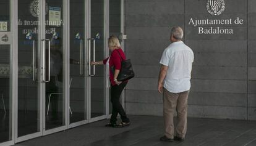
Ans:
[[[61,24],[61,7],[50,7],[49,6],[49,25]]]

